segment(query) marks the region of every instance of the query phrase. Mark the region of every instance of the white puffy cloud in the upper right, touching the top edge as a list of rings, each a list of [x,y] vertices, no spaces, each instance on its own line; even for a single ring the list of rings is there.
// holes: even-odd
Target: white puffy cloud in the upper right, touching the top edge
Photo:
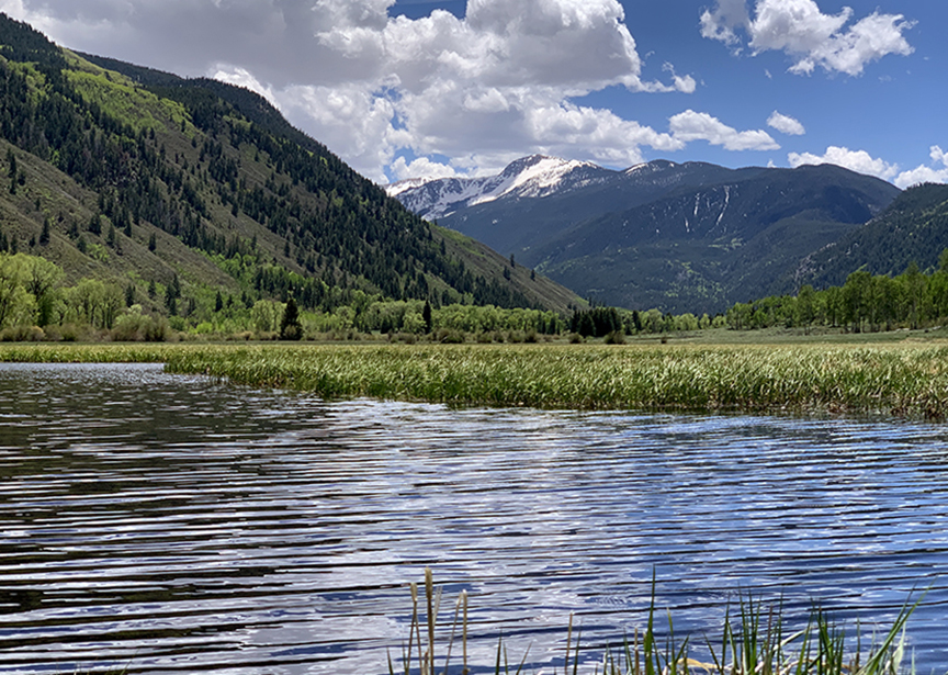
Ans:
[[[747,40],[755,55],[785,52],[794,59],[790,71],[800,75],[810,75],[819,66],[827,72],[858,76],[884,56],[912,54],[904,34],[914,22],[903,14],[876,11],[847,25],[851,19],[850,8],[824,14],[815,0],[756,0],[753,16],[746,0],[718,0],[701,14],[701,34],[732,48]]]

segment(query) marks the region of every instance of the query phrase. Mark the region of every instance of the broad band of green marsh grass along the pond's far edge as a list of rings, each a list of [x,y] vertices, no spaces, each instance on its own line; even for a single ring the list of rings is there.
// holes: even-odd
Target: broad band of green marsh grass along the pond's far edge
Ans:
[[[171,373],[451,405],[948,417],[948,346],[10,345],[0,361],[163,362]]]

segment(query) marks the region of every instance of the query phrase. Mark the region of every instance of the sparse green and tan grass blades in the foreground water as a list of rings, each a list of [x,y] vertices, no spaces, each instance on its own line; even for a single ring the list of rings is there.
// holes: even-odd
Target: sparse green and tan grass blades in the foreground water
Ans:
[[[469,675],[472,664],[467,661],[467,594],[458,598],[448,642],[436,644],[436,618],[439,616],[441,589],[436,588],[430,569],[425,571],[425,598],[419,599],[417,584],[410,584],[411,621],[408,643],[403,645],[398,671],[388,654],[388,673],[396,675]],[[595,651],[582,644],[579,631],[569,616],[566,627],[566,644],[563,659],[563,675],[904,675],[913,673],[911,663],[904,665],[906,656],[906,623],[921,600],[902,607],[892,626],[881,638],[877,637],[867,651],[862,651],[862,635],[856,631],[855,649],[847,641],[846,631],[837,626],[822,609],[814,608],[802,630],[786,634],[782,610],[755,603],[749,596],[738,603],[737,612],[725,609],[721,638],[716,642],[708,637],[703,643],[710,653],[709,661],[689,656],[690,640],[675,637],[674,620],[668,615],[667,632],[662,635],[656,628],[655,580],[652,582],[652,600],[643,632],[636,629],[617,646],[606,645]],[[420,606],[419,606],[420,605]],[[421,612],[427,608],[427,612]],[[462,614],[463,612],[463,614]],[[459,621],[460,618],[460,621]],[[425,638],[422,639],[422,632]],[[576,638],[574,640],[574,632]],[[463,660],[454,671],[450,670],[451,653],[455,639],[462,642]],[[503,637],[497,641],[493,664],[477,666],[478,671],[495,675],[520,675],[524,672],[529,650],[519,662],[510,662]],[[443,660],[443,661],[442,661]],[[439,664],[443,664],[439,667]],[[582,666],[582,671],[580,671]],[[554,668],[554,673],[557,673]]]

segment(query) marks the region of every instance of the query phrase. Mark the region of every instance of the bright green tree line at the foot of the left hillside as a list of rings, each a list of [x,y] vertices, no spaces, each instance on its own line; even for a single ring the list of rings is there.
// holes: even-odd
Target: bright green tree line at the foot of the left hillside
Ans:
[[[57,265],[24,252],[0,251],[0,339],[163,340],[180,331],[194,336],[300,339],[317,334],[381,333],[421,336],[443,329],[459,334],[519,331],[558,335],[567,326],[556,312],[494,305],[432,306],[427,300],[392,300],[349,290],[326,311],[303,311],[287,291],[283,300],[246,292],[192,286],[182,295],[178,277],[137,286],[95,279],[65,283]],[[343,304],[341,301],[346,300]]]

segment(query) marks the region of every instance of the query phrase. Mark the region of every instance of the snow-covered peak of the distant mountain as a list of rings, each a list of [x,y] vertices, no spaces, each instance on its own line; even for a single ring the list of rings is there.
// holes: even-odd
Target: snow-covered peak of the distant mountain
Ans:
[[[385,188],[407,209],[435,221],[498,199],[542,198],[603,182],[617,175],[588,161],[531,155],[482,178],[408,179]]]

